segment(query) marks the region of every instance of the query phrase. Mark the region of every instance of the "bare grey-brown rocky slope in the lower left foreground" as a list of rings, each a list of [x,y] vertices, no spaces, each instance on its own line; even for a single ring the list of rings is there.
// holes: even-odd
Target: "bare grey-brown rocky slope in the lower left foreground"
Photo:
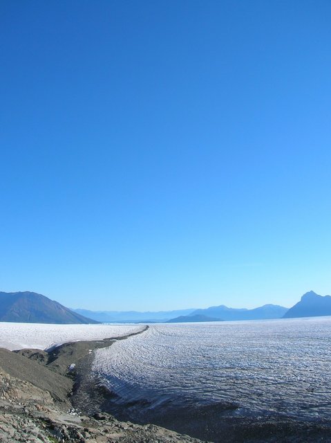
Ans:
[[[70,399],[82,390],[77,367],[111,340],[67,343],[47,353],[0,349],[0,441],[16,442],[199,442],[151,424],[119,422],[106,413],[80,415]],[[83,365],[84,366],[84,365]]]

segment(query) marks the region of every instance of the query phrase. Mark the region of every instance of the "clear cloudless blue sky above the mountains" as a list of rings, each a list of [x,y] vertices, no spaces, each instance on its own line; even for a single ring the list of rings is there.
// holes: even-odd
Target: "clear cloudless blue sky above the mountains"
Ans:
[[[331,293],[331,3],[0,3],[0,290]]]

